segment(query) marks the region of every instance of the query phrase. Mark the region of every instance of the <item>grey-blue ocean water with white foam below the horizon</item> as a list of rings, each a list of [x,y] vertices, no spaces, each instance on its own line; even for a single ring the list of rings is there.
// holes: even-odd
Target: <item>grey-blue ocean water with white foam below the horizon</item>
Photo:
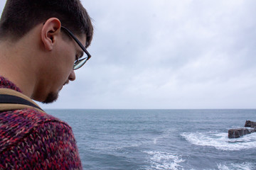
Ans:
[[[46,110],[67,122],[83,169],[256,169],[256,110]]]

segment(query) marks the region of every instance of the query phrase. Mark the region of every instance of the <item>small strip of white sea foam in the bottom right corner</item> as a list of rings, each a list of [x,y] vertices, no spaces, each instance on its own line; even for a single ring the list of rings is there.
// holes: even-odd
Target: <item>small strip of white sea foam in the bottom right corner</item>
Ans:
[[[243,164],[218,164],[219,170],[252,170],[255,169],[255,164],[243,163]]]

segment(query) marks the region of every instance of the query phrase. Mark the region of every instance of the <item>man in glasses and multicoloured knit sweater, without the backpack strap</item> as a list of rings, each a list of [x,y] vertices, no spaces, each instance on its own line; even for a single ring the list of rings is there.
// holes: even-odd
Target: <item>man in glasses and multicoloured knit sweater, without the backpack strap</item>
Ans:
[[[92,33],[80,0],[7,0],[0,89],[55,101],[90,59]],[[0,169],[82,169],[70,126],[36,108],[0,111]]]

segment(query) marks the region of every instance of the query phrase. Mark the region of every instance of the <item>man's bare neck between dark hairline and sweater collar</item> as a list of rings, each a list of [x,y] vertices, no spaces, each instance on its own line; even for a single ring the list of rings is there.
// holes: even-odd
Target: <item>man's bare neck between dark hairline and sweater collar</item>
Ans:
[[[28,54],[29,43],[0,42],[0,75],[12,81],[22,93],[30,97],[36,86],[36,63],[32,63],[31,54]]]

